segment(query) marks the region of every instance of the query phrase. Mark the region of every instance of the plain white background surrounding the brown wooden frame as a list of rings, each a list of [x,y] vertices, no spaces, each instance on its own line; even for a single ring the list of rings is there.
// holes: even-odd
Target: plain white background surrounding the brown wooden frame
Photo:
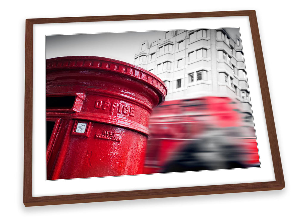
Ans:
[[[303,7],[296,1],[26,1],[2,3],[1,211],[6,219],[303,218]],[[127,200],[44,207],[23,205],[25,19],[142,13],[256,10],[286,188],[281,191]],[[90,186],[88,186],[90,187]]]

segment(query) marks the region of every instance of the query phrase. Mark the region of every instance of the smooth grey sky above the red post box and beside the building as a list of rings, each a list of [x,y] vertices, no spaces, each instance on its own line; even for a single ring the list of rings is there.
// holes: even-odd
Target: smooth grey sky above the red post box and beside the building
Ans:
[[[233,38],[239,28],[226,28]],[[46,59],[65,56],[108,57],[133,64],[141,42],[162,38],[164,31],[46,36]]]

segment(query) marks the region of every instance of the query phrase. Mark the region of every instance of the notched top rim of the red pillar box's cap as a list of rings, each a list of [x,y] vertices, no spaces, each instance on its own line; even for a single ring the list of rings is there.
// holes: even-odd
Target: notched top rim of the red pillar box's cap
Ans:
[[[92,71],[107,71],[124,75],[154,89],[160,97],[159,104],[165,100],[167,88],[165,83],[151,72],[138,66],[106,57],[56,57],[46,60],[47,73],[57,70],[87,69]]]

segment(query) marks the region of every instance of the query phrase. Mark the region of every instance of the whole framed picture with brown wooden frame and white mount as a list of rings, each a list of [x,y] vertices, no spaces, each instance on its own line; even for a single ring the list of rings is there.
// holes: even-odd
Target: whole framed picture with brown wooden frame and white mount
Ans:
[[[27,19],[25,57],[25,206],[285,187],[255,11]]]

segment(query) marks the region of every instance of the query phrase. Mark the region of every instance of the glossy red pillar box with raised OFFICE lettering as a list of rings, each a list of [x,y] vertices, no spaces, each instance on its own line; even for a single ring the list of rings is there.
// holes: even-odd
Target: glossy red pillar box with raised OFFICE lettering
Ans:
[[[104,57],[47,60],[47,179],[142,174],[162,80]]]

